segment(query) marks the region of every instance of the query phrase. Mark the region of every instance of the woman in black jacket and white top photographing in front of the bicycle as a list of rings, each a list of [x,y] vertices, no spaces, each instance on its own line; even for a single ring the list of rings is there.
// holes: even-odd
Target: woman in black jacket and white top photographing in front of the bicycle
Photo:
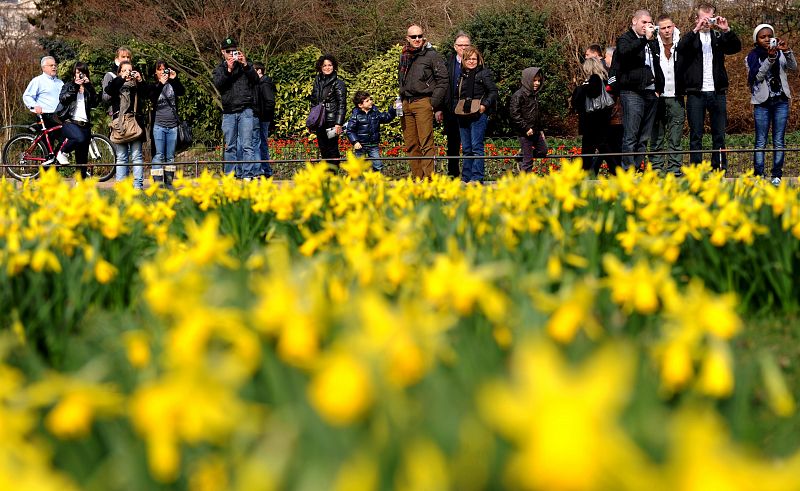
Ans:
[[[73,79],[61,87],[59,95],[58,117],[63,123],[61,134],[66,143],[56,159],[61,164],[69,163],[64,154],[74,150],[75,163],[84,178],[92,139],[92,109],[97,107],[99,100],[89,80],[89,65],[79,61],[75,64]]]

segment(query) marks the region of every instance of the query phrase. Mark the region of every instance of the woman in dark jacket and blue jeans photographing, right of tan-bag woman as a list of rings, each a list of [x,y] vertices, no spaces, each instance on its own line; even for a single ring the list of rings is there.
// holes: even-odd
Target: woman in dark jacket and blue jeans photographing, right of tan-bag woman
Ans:
[[[163,182],[167,189],[172,189],[175,169],[169,164],[175,162],[175,146],[178,142],[178,97],[186,91],[175,70],[164,60],[156,61],[155,77],[155,85],[150,91],[153,108],[150,119],[153,128],[153,167],[150,175],[153,181]],[[166,168],[161,165],[163,162],[168,164]]]

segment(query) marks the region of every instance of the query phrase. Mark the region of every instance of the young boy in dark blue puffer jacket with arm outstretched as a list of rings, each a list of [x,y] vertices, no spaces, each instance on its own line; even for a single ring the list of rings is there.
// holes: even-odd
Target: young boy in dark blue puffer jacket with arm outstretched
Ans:
[[[380,172],[383,168],[381,151],[378,145],[381,142],[380,126],[393,120],[397,115],[394,107],[389,107],[387,112],[381,112],[375,107],[369,92],[359,90],[353,96],[356,105],[347,121],[347,138],[353,144],[353,153],[356,157],[364,154],[372,161],[372,170]]]

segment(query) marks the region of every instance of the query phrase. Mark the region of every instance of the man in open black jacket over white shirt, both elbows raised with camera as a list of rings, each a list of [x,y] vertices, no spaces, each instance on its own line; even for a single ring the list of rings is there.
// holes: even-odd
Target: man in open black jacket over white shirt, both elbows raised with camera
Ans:
[[[683,80],[686,91],[686,119],[689,120],[689,150],[703,149],[703,124],[706,111],[711,119],[711,148],[725,148],[725,126],[728,123],[728,72],[725,56],[742,50],[742,42],[731,31],[728,19],[715,16],[715,7],[701,3],[697,7],[694,29],[678,41],[676,76]],[[703,160],[701,152],[692,153],[691,162]],[[711,154],[715,169],[727,169],[724,152]]]

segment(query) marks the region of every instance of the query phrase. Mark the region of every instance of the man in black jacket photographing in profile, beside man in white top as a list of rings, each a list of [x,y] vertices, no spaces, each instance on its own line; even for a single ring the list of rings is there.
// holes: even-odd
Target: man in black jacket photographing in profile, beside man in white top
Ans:
[[[631,27],[617,38],[616,85],[622,101],[622,151],[645,152],[655,122],[658,96],[664,92],[660,49],[647,10],[633,14]],[[644,155],[625,155],[622,168],[639,168]]]

